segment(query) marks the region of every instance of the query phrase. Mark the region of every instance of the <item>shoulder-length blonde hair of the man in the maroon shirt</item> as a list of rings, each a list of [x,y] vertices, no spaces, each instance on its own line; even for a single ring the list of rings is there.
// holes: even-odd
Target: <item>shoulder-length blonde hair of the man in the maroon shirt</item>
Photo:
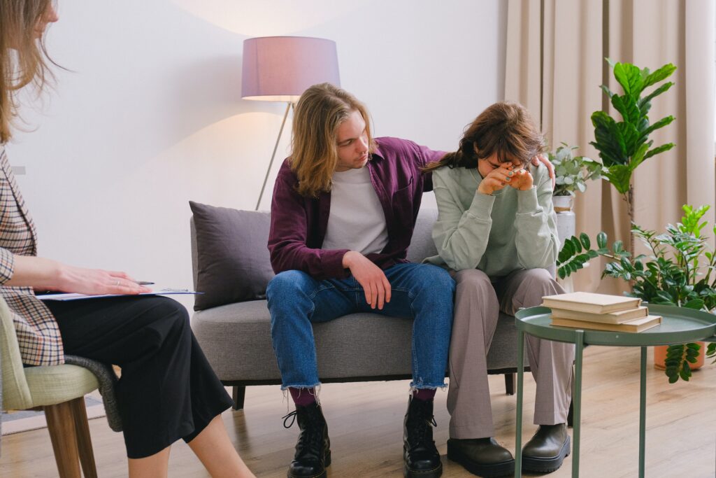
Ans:
[[[296,103],[291,140],[291,170],[299,178],[296,190],[315,198],[331,190],[338,162],[337,130],[353,111],[365,121],[369,150],[374,150],[368,111],[346,90],[330,83],[309,87]]]

